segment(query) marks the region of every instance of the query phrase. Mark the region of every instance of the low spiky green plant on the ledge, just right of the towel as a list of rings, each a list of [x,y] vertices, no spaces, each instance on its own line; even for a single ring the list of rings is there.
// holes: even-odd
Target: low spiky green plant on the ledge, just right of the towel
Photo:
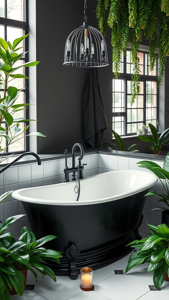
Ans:
[[[128,146],[126,149],[124,149],[124,143],[123,143],[123,140],[122,138],[117,134],[117,132],[115,132],[114,130],[112,130],[112,133],[114,134],[114,137],[115,137],[115,140],[118,144],[118,148],[115,144],[113,143],[103,143],[103,145],[107,148],[107,149],[110,149],[110,150],[118,150],[118,151],[127,151],[127,152],[139,152],[138,149],[135,149],[133,147],[136,147],[138,144],[133,144],[133,145],[130,145]],[[112,146],[112,147],[109,147],[109,146]]]

